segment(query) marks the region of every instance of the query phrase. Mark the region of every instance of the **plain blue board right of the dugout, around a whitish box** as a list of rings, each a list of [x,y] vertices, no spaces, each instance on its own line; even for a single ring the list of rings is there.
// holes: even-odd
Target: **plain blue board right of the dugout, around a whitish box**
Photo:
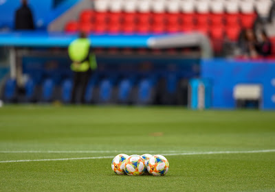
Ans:
[[[212,106],[234,108],[236,84],[261,84],[265,110],[275,109],[275,60],[202,60],[201,77],[212,83]]]

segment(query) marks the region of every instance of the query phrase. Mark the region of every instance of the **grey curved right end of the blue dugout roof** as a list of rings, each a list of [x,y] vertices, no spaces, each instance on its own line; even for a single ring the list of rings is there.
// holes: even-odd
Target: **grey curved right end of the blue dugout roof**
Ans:
[[[202,50],[202,58],[213,57],[210,40],[201,33],[151,37],[148,39],[148,46],[157,49],[199,46]]]

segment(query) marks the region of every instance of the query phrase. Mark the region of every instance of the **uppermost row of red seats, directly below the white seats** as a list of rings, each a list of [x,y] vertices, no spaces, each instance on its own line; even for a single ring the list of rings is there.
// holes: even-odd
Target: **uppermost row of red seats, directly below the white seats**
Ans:
[[[188,23],[251,23],[248,20],[254,20],[256,14],[182,14],[182,13],[152,13],[152,12],[94,12],[93,10],[83,10],[79,17],[79,23],[93,23],[100,25],[108,24],[131,24],[131,23],[170,23],[170,24],[188,24]]]

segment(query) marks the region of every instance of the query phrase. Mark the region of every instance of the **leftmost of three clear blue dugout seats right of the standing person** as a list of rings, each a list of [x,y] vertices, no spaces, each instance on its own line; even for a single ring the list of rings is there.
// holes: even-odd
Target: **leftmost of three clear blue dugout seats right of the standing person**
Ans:
[[[101,82],[100,91],[99,91],[99,98],[98,98],[100,103],[111,102],[112,89],[113,89],[113,86],[112,86],[110,80],[103,80]]]

